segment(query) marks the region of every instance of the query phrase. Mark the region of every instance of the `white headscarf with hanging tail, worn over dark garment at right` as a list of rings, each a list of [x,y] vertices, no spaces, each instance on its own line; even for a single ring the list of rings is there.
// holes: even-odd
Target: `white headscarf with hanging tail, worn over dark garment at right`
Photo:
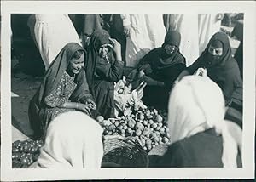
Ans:
[[[224,167],[236,167],[237,145],[224,122],[224,96],[208,77],[188,76],[172,89],[168,108],[171,143],[215,128],[223,137]]]

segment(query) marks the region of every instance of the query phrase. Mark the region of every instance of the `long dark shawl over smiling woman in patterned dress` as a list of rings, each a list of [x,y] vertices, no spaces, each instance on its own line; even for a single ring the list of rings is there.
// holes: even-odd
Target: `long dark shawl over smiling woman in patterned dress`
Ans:
[[[44,128],[47,128],[47,126],[44,125],[46,123],[49,124],[51,119],[53,119],[49,115],[51,114],[50,110],[55,108],[46,105],[45,98],[58,88],[73,54],[78,50],[84,51],[77,43],[68,43],[61,49],[61,52],[56,56],[55,60],[49,66],[49,69],[46,71],[44,80],[38,88],[37,93],[33,96],[32,100],[30,100],[28,115],[36,138],[41,138],[44,135]],[[86,56],[85,51],[84,56]],[[69,100],[72,102],[84,102],[84,98],[92,98],[84,69],[81,69],[79,74],[75,76],[74,83],[76,84],[76,88]]]

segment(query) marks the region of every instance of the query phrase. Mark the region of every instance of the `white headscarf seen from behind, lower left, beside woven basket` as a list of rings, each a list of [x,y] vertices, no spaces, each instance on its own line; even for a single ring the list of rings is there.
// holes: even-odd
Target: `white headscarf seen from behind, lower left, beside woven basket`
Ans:
[[[61,114],[49,124],[39,168],[101,168],[102,127],[79,111]]]

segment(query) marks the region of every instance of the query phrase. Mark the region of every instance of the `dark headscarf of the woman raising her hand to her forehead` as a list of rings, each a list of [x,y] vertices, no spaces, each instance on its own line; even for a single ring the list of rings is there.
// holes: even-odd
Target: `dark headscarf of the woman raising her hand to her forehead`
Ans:
[[[105,43],[110,43],[109,41],[109,34],[108,31],[105,30],[96,30],[91,36],[90,39],[90,49],[88,53],[88,61],[85,64],[85,71],[86,71],[86,77],[89,86],[91,87],[91,84],[93,82],[94,72],[96,69],[96,60],[102,59],[99,56],[99,49],[101,46]]]

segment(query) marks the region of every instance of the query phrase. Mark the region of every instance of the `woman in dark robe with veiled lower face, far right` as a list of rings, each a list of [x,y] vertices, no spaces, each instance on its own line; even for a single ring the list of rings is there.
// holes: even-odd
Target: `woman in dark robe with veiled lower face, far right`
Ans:
[[[178,76],[177,81],[186,75],[192,75],[198,68],[207,69],[207,76],[222,89],[226,105],[230,103],[235,91],[242,90],[239,67],[232,57],[229,37],[223,32],[212,36],[205,51]]]

